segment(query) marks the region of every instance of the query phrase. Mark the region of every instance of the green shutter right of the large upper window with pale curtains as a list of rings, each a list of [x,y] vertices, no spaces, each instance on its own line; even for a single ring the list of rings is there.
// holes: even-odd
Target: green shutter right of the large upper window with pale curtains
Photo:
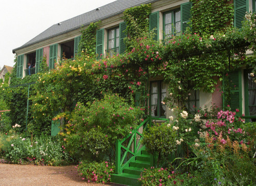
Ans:
[[[180,11],[181,11],[181,32],[186,32],[186,28],[189,26],[187,23],[190,21],[191,18],[191,10],[192,3],[183,3],[180,5]]]

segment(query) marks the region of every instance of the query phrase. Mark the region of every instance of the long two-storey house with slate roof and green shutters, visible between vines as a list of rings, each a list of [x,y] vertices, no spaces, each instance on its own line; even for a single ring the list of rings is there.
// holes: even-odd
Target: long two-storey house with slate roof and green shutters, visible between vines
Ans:
[[[90,22],[101,20],[100,29],[97,31],[96,53],[106,56],[106,53],[118,52],[125,50],[122,34],[125,24],[122,19],[123,11],[127,8],[139,6],[141,4],[152,4],[152,14],[150,15],[150,30],[156,28],[156,39],[162,40],[174,32],[184,32],[187,22],[190,18],[191,3],[189,0],[118,0],[108,5],[99,7],[90,12],[73,17],[71,19],[59,22],[46,31],[40,33],[24,45],[13,50],[17,55],[17,78],[37,73],[40,71],[39,64],[42,57],[46,57],[50,69],[54,68],[54,63],[59,62],[65,55],[66,58],[73,58],[77,53],[80,41],[81,26],[87,27]],[[234,26],[241,28],[241,21],[244,19],[246,12],[255,11],[255,0],[234,0]],[[175,26],[176,31],[172,28]],[[163,34],[165,33],[165,34]],[[28,64],[31,64],[30,68]],[[234,74],[237,78],[239,90],[236,90],[236,97],[239,100],[230,103],[233,108],[240,108],[246,116],[256,115],[255,111],[250,113],[249,110],[255,109],[255,104],[251,105],[250,97],[255,98],[248,83],[252,81],[247,76],[247,71],[241,69],[239,74]],[[220,84],[219,84],[220,85]],[[166,85],[161,79],[152,80],[151,86],[151,114],[155,117],[167,118],[171,113],[165,106],[161,105],[159,98],[168,95]],[[213,94],[203,91],[191,92],[188,102],[188,109],[191,106],[210,105],[215,103],[222,106],[222,99],[218,91]],[[236,100],[236,99],[231,99]],[[250,102],[250,104],[249,104]]]

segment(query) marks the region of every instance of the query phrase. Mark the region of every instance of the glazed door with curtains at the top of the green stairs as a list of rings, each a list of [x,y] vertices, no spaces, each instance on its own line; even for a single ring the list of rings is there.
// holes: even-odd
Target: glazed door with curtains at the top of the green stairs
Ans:
[[[150,95],[151,115],[166,118],[166,105],[161,103],[166,97],[166,84],[163,81],[151,82]]]

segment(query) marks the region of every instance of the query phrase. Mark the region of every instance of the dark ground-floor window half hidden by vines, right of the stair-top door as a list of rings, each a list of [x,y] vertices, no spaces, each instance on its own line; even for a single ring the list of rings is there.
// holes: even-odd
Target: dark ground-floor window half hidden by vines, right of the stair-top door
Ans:
[[[199,91],[191,90],[189,96],[187,97],[187,102],[185,104],[187,110],[191,114],[196,114],[197,110],[195,107],[199,107]]]

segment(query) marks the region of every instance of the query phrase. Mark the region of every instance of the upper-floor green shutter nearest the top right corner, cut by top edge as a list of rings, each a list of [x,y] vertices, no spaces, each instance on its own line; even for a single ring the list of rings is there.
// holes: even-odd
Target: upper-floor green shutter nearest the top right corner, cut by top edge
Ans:
[[[246,12],[249,12],[248,0],[234,0],[234,27],[242,28]]]

